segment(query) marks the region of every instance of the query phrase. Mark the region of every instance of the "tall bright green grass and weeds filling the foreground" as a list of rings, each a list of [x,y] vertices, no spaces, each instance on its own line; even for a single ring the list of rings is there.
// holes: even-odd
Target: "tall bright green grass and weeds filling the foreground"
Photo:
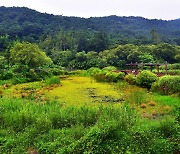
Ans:
[[[146,122],[134,109],[63,107],[21,99],[0,100],[0,153],[178,152],[175,118]],[[176,148],[176,149],[175,149]]]

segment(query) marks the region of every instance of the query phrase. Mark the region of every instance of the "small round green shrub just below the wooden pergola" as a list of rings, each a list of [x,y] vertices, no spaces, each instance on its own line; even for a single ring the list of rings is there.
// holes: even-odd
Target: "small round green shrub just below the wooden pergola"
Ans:
[[[141,87],[150,89],[153,82],[155,82],[157,79],[158,77],[156,76],[156,74],[145,70],[137,75],[136,83]]]

